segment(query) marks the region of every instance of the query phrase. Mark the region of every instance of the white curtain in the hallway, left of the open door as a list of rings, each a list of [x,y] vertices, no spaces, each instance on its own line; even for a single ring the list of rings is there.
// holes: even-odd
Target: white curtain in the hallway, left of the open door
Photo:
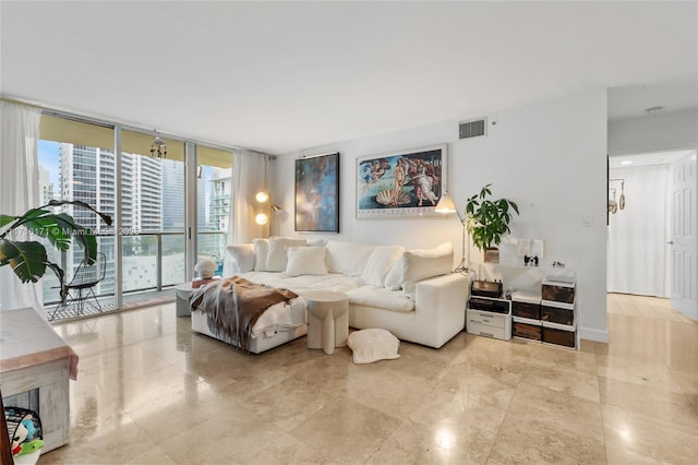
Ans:
[[[625,179],[625,210],[611,214],[607,286],[611,293],[670,297],[670,165],[612,169]],[[621,183],[612,182],[621,195]]]

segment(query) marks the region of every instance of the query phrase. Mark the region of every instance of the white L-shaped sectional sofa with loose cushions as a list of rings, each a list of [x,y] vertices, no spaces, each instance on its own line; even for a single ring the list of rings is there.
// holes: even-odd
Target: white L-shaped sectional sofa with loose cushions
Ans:
[[[338,240],[309,245],[305,239],[272,237],[229,247],[228,252],[226,275],[239,274],[301,296],[312,289],[346,294],[349,325],[354,329],[380,327],[434,348],[464,330],[470,286],[466,276],[450,273],[454,258],[448,242],[429,250],[406,250],[402,246]],[[192,326],[200,331],[202,317],[195,313]],[[303,334],[296,331],[285,338]]]

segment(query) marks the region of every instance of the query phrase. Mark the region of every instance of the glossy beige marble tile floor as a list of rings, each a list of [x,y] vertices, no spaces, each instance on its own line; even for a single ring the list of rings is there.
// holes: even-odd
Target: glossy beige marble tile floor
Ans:
[[[81,356],[70,445],[39,464],[695,464],[698,323],[609,296],[581,350],[458,334],[351,362],[305,338],[249,356],[173,305],[56,325]]]

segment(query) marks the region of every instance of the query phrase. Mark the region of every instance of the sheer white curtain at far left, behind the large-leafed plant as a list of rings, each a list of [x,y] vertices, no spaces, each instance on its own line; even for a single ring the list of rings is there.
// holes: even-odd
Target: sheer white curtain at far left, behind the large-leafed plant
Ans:
[[[41,110],[0,100],[0,213],[21,215],[40,206],[37,146]],[[17,237],[15,239],[27,239]],[[0,267],[0,310],[44,309],[41,283],[23,284],[10,266]]]

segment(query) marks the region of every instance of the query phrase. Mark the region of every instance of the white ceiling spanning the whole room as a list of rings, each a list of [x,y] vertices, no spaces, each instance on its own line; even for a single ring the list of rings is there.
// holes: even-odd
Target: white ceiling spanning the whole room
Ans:
[[[0,2],[4,97],[287,153],[609,87],[698,107],[698,2]]]

